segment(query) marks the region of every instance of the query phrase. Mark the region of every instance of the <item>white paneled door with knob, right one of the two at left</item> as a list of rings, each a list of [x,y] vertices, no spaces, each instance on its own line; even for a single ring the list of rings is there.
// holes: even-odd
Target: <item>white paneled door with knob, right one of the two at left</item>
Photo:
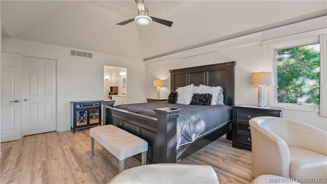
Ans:
[[[22,135],[57,130],[56,60],[23,57]]]

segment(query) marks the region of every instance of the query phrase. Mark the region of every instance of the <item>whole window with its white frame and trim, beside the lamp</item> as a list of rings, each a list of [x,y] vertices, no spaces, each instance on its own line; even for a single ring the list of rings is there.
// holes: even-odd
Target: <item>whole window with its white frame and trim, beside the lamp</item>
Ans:
[[[317,30],[262,41],[269,45],[275,84],[269,106],[327,116],[327,34]]]

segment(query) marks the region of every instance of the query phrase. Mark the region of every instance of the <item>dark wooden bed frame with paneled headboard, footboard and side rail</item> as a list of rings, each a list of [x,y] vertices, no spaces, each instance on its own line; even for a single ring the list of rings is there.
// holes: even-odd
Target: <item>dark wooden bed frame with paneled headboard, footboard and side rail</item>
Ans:
[[[183,110],[186,108],[186,112],[195,113],[187,107],[192,105],[180,106],[180,104],[169,104],[167,101],[143,103],[153,106],[153,112],[150,110],[150,112],[147,111],[145,114],[141,114],[133,110],[133,107],[137,109],[142,104],[127,104],[124,107],[115,106],[123,108],[120,109],[113,107],[114,102],[106,101],[104,124],[118,126],[146,140],[149,144],[147,152],[148,163],[178,163],[183,158],[212,143],[226,133],[227,139],[231,139],[230,106],[234,105],[235,99],[235,66],[236,61],[231,61],[169,71],[171,74],[172,92],[178,87],[190,84],[197,86],[201,84],[221,86],[223,88],[223,103],[227,106],[223,108],[226,111],[225,114],[227,114],[226,118],[228,120],[225,117],[222,118],[224,120],[214,128],[208,129],[205,133],[194,137],[192,140],[180,141],[180,135],[177,131],[177,122],[181,118],[188,116]],[[150,107],[146,108],[149,109]],[[205,108],[214,107],[208,106]],[[223,117],[221,114],[217,116]]]

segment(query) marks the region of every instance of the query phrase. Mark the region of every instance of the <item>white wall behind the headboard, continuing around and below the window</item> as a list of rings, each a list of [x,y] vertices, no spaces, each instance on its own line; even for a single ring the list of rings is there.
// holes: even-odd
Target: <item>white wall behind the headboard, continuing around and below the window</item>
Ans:
[[[261,45],[261,41],[286,35],[311,31],[310,29],[326,28],[326,17],[314,20],[308,27],[308,21],[291,25],[287,28],[268,30],[239,38],[225,40],[204,47],[175,53],[160,58],[145,61],[146,65],[146,97],[155,97],[155,87],[152,80],[164,80],[164,87],[161,88],[161,98],[168,97],[170,93],[169,70],[200,66],[206,64],[237,61],[235,73],[236,99],[235,104],[256,105],[258,104],[258,87],[251,86],[251,74],[253,72],[273,71],[272,59],[269,56],[268,45]],[[295,29],[296,28],[296,29]],[[269,88],[268,88],[269,89]],[[266,97],[269,97],[269,90],[266,90]],[[266,104],[269,106],[269,100]],[[324,102],[321,102],[324,103]],[[319,116],[314,111],[284,110],[284,118],[301,121],[323,130],[327,130],[327,118]]]

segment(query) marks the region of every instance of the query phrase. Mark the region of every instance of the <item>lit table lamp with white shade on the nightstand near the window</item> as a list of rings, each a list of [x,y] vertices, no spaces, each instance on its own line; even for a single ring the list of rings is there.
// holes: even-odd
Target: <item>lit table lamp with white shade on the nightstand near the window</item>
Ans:
[[[252,73],[251,85],[258,85],[258,107],[266,106],[266,85],[274,85],[272,72]]]

